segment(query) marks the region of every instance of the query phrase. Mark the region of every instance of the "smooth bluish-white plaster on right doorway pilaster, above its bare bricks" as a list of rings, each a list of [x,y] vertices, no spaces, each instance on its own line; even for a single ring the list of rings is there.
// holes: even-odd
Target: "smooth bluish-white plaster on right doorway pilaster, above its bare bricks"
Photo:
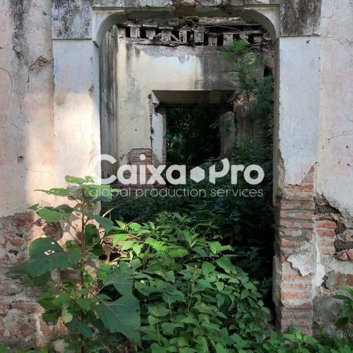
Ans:
[[[320,37],[280,38],[278,145],[284,185],[300,184],[318,162],[320,44]]]

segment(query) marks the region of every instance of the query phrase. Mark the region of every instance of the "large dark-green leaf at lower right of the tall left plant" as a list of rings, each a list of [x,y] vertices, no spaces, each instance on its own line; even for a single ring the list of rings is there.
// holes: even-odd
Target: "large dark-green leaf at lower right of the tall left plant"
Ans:
[[[96,306],[97,316],[111,333],[122,333],[140,342],[140,306],[132,294]]]

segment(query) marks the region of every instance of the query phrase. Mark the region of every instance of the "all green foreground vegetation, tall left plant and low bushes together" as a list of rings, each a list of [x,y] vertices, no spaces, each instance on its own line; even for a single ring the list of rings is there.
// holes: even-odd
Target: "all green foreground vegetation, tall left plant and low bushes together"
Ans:
[[[33,241],[29,260],[9,275],[43,290],[42,318],[61,318],[71,332],[68,349],[351,352],[346,340],[318,340],[295,330],[280,337],[267,330],[260,285],[234,264],[239,254],[222,245],[222,229],[213,220],[160,213],[154,222],[113,222],[91,213],[97,201],[110,201],[101,196],[109,195],[109,186],[92,184],[90,177],[66,181],[75,187],[44,192],[70,198],[75,207],[32,210],[49,223],[69,222],[76,237],[64,246],[49,237]],[[116,261],[100,260],[107,244],[119,249]],[[60,282],[51,279],[55,270],[62,271]],[[337,297],[345,301],[339,325],[346,336],[353,303],[352,289],[347,292],[350,297]]]

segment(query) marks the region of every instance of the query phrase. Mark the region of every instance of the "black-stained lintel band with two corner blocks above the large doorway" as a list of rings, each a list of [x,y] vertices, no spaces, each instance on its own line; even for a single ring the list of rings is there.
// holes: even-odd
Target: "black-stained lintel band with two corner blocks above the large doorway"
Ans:
[[[189,16],[198,8],[216,6],[219,16],[241,16],[241,13],[229,13],[229,6],[274,5],[281,15],[282,35],[317,35],[320,28],[321,0],[69,0],[52,1],[53,35],[56,39],[92,37],[90,8],[126,8],[135,16],[134,8],[156,8],[156,13],[169,17]],[[140,15],[141,16],[141,15]],[[143,16],[143,15],[142,15]]]

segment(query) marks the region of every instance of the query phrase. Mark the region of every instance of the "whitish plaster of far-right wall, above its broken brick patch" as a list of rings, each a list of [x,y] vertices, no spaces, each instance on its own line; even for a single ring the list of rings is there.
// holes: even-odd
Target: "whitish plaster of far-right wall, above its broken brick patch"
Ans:
[[[316,186],[353,215],[353,3],[323,0],[320,143]]]

